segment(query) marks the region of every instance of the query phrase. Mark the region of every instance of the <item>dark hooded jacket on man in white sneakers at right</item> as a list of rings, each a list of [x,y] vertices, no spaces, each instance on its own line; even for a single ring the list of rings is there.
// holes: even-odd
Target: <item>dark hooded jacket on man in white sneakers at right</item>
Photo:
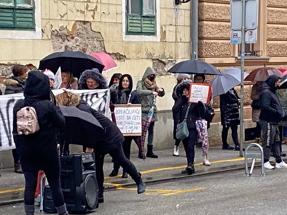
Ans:
[[[280,79],[277,75],[270,75],[259,87],[259,102],[261,107],[260,120],[278,123],[282,120],[282,105],[276,95],[275,83]]]

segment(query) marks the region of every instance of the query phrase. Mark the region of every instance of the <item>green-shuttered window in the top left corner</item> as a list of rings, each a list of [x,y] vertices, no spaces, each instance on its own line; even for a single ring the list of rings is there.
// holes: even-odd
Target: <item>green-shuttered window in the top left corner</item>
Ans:
[[[0,29],[34,31],[34,0],[0,0]]]

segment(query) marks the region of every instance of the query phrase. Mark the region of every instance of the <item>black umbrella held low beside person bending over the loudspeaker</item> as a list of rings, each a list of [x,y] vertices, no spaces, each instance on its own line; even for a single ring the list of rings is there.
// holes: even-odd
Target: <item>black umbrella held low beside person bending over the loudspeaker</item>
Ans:
[[[63,139],[66,145],[75,144],[94,148],[98,142],[104,140],[104,130],[92,114],[77,107],[62,105],[59,107],[66,121],[65,128],[61,130],[65,134]]]

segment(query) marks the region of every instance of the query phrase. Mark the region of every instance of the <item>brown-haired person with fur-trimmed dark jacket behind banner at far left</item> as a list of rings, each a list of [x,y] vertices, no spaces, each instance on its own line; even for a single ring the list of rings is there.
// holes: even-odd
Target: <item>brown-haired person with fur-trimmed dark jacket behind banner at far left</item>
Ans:
[[[24,92],[28,75],[28,67],[16,64],[12,67],[12,73],[13,76],[3,81],[3,84],[6,85],[4,95]],[[12,155],[14,159],[15,173],[23,173],[19,154],[16,148],[12,149]]]

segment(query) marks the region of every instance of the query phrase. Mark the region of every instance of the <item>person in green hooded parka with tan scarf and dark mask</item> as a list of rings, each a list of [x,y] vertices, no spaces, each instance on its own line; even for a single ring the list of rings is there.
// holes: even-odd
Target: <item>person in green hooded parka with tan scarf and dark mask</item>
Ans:
[[[146,68],[146,71],[143,75],[141,81],[137,82],[137,93],[141,97],[141,120],[148,121],[148,112],[152,107],[154,101],[154,96],[163,97],[165,92],[163,88],[160,88],[156,85],[156,72],[152,67]],[[152,116],[152,122],[148,127],[148,151],[146,157],[158,158],[152,152],[153,148],[153,139],[154,139],[154,122],[158,121],[157,109],[154,109],[154,115]],[[139,158],[142,158],[142,155],[139,153]]]

